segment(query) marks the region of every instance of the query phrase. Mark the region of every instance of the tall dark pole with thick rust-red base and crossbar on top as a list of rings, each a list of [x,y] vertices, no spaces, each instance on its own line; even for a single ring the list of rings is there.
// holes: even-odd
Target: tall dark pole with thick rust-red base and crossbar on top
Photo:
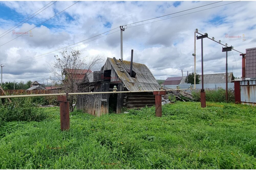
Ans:
[[[200,99],[201,99],[201,107],[206,107],[206,98],[205,98],[205,89],[204,89],[204,60],[203,60],[203,39],[207,38],[208,34],[205,33],[205,35],[196,36],[196,39],[201,39],[201,70],[202,70],[202,89],[200,92]]]

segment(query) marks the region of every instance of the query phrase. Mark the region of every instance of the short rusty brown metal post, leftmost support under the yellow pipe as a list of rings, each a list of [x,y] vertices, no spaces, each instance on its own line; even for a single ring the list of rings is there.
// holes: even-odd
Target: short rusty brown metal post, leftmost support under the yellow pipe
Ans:
[[[69,102],[67,101],[67,96],[58,96],[58,101],[60,102],[60,129],[68,130],[70,128],[70,120]]]

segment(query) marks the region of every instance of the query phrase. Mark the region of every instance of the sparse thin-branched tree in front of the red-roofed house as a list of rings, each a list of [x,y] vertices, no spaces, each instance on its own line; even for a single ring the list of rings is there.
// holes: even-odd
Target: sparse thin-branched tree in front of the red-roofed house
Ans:
[[[93,71],[100,70],[104,63],[103,56],[81,57],[79,50],[69,49],[61,52],[61,56],[54,56],[53,63],[48,63],[48,70],[52,74],[50,80],[56,82],[62,93],[77,93],[83,91],[78,88],[81,83],[90,86],[93,81]],[[69,109],[72,112],[77,101],[77,96],[69,95]]]

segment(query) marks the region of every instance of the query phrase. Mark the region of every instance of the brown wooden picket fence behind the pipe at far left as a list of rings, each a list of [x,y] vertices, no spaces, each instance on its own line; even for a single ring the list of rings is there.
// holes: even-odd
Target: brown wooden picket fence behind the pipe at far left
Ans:
[[[54,94],[61,93],[60,90],[4,90],[6,95],[20,95],[20,94]],[[0,96],[5,96],[3,91],[0,91]]]

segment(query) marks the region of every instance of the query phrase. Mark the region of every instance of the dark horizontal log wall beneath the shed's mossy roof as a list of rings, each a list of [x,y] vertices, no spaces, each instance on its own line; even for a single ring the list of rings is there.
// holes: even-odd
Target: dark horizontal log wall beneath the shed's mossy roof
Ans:
[[[152,92],[127,93],[123,97],[123,106],[129,109],[154,105],[155,95]]]

